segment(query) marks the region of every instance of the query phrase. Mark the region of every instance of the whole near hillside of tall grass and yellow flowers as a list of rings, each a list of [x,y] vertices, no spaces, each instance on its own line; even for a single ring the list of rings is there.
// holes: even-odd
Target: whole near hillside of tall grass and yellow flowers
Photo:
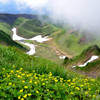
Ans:
[[[0,45],[0,99],[98,100],[100,81]],[[39,63],[37,63],[39,62]]]

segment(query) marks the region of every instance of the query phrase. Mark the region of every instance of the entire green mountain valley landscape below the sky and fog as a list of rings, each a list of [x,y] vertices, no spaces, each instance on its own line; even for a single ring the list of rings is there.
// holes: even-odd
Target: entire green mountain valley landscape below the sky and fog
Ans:
[[[0,99],[99,100],[99,37],[42,17],[0,15]]]

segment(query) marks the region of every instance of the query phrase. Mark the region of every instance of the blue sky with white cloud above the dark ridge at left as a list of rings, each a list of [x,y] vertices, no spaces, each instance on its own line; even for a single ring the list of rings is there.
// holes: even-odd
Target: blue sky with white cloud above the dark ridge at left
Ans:
[[[0,0],[0,13],[47,14],[48,0]]]

